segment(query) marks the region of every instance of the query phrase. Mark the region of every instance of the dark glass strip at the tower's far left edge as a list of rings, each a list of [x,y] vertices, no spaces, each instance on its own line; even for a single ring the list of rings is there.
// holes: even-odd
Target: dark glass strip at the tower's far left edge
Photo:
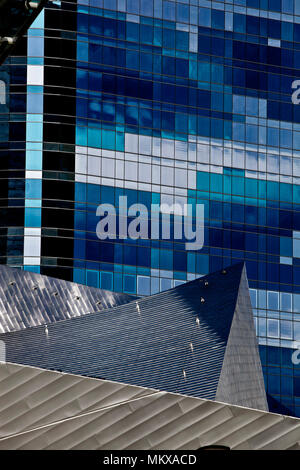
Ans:
[[[0,264],[22,265],[26,148],[26,47],[0,66]]]

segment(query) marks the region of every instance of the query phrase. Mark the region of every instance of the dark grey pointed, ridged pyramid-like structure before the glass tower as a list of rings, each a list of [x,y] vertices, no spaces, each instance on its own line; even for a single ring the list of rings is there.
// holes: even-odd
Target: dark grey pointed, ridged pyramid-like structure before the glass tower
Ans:
[[[0,339],[8,362],[268,409],[243,264]]]

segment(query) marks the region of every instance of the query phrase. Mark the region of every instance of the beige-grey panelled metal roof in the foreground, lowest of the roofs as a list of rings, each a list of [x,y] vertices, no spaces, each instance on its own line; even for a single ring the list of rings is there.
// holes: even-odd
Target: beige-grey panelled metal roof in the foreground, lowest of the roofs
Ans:
[[[299,450],[300,419],[0,364],[0,449]]]

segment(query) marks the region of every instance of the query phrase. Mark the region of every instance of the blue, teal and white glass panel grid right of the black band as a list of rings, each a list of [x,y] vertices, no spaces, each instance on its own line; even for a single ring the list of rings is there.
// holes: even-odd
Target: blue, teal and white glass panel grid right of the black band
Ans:
[[[110,286],[141,295],[245,260],[270,406],[299,415],[291,360],[300,339],[300,108],[291,101],[299,68],[298,5],[141,1],[116,3],[107,12],[105,2],[82,3],[79,199],[85,192],[83,199],[93,204],[104,191],[116,203],[129,194],[149,204],[205,205],[199,253],[185,252],[175,240],[116,242],[99,254],[100,265],[90,263],[91,271],[100,271],[94,282],[102,283],[104,257],[107,266],[115,264]],[[93,184],[98,194],[89,199]],[[91,232],[95,221],[88,219]],[[75,246],[86,262],[82,233]],[[81,279],[91,276],[80,269],[85,265],[78,267]],[[269,367],[274,348],[285,351],[284,369],[278,358],[277,368]]]

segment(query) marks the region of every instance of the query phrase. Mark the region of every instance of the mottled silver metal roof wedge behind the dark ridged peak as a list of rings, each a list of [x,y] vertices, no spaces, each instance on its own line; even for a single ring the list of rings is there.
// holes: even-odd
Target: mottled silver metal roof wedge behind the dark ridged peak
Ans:
[[[94,313],[135,298],[0,265],[0,332]]]

